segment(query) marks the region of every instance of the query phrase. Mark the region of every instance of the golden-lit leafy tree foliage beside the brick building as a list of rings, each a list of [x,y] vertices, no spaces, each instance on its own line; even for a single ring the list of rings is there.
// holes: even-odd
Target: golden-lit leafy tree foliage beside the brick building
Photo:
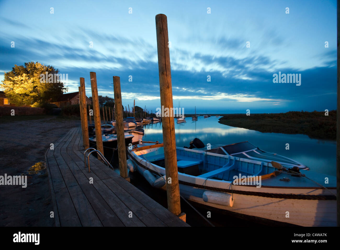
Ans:
[[[11,103],[17,106],[28,104],[32,107],[43,107],[50,99],[57,99],[67,91],[67,87],[64,87],[59,78],[55,81],[53,77],[52,81],[48,81],[44,77],[44,80],[41,80],[41,74],[45,75],[46,72],[54,76],[59,70],[39,62],[28,62],[24,66],[14,65],[12,71],[4,73],[0,87]]]

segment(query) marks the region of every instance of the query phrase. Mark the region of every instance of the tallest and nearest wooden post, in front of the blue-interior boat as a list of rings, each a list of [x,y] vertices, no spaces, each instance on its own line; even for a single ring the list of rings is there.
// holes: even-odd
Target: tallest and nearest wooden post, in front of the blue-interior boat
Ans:
[[[168,108],[169,110],[172,110],[173,102],[170,71],[170,53],[168,47],[168,21],[167,16],[164,14],[156,15],[156,36],[160,105],[164,106],[164,109]],[[185,221],[186,215],[184,213],[181,214],[180,186],[178,183],[177,170],[175,123],[172,115],[170,115],[169,117],[162,117],[162,122],[168,210]]]

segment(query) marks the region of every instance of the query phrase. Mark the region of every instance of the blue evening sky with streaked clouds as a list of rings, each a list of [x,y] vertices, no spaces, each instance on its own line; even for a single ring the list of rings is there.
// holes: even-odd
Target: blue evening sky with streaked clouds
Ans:
[[[185,113],[336,109],[336,1],[1,1],[0,80],[38,61],[67,73],[69,92],[84,77],[87,96],[94,71],[99,94],[113,97],[120,76],[123,106],[136,99],[155,111],[159,13],[168,18],[174,106]],[[301,73],[301,86],[273,83],[279,71]]]

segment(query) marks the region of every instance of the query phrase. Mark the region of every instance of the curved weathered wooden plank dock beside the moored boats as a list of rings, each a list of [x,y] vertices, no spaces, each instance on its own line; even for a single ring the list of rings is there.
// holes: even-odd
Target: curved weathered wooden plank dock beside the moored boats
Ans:
[[[81,133],[71,129],[45,153],[56,226],[189,226],[92,155],[89,173]]]

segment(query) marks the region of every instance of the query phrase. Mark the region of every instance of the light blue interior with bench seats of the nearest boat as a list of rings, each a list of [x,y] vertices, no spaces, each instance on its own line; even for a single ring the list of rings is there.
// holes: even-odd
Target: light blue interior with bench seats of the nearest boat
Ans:
[[[233,181],[234,176],[262,176],[272,173],[275,168],[267,163],[240,161],[238,157],[216,156],[205,152],[177,148],[177,168],[180,173],[206,179]],[[164,148],[143,154],[142,157],[160,167],[165,167]]]

